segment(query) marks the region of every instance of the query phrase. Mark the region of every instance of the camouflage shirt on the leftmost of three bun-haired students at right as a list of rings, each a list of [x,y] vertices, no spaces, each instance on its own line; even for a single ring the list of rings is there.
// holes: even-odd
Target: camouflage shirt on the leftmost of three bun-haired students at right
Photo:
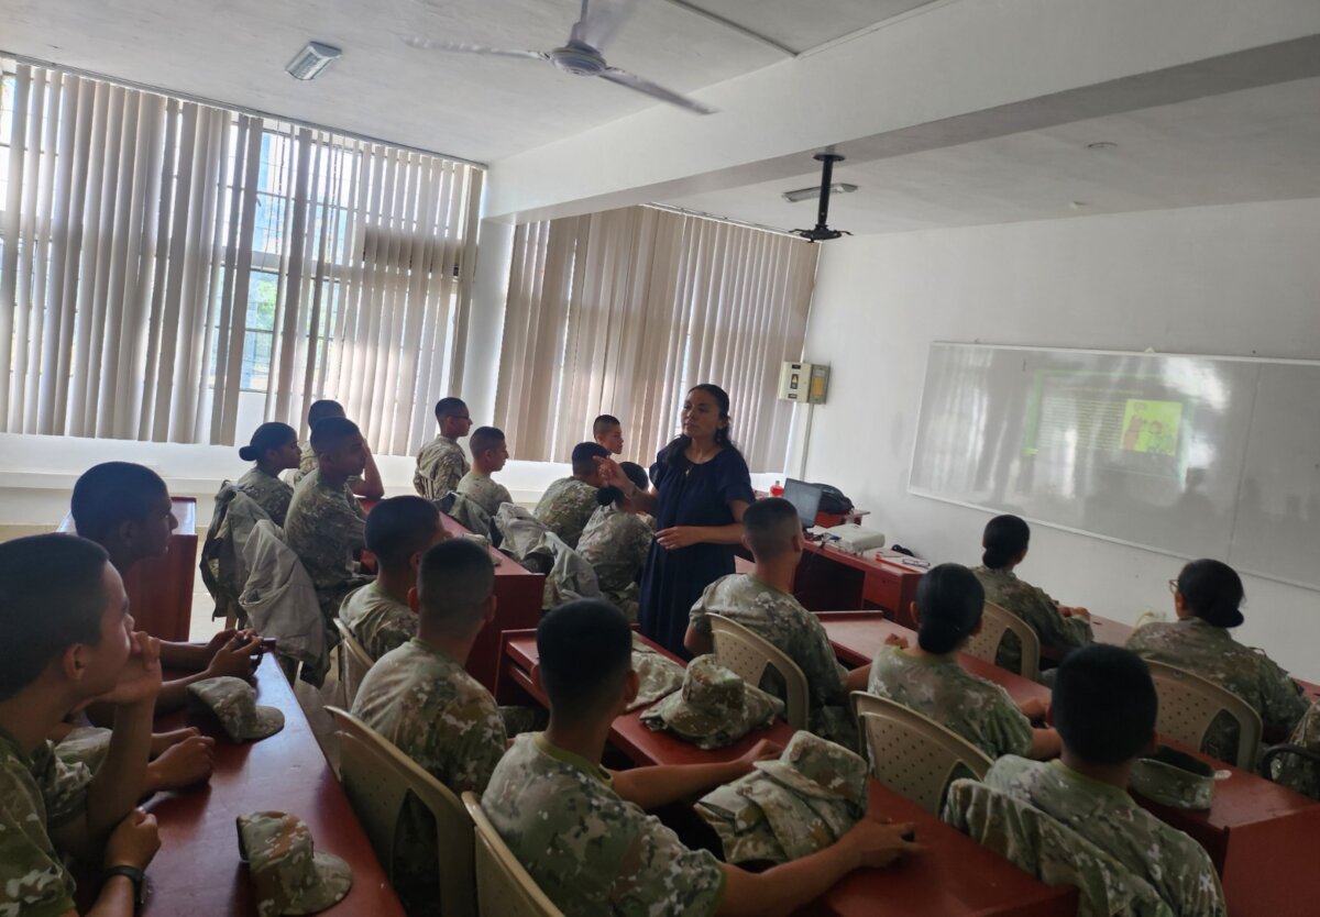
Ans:
[[[1031,751],[1031,722],[1008,693],[964,670],[950,656],[911,656],[882,647],[866,690],[953,730],[993,759]]]

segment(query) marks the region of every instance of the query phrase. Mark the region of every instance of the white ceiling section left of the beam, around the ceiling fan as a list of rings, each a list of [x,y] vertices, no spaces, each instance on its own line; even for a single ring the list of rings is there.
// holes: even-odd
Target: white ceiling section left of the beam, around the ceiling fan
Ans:
[[[694,92],[928,1],[640,0],[607,57]],[[400,36],[548,50],[578,13],[579,0],[0,0],[0,51],[491,162],[656,103]],[[309,40],[343,57],[298,82],[284,66]]]

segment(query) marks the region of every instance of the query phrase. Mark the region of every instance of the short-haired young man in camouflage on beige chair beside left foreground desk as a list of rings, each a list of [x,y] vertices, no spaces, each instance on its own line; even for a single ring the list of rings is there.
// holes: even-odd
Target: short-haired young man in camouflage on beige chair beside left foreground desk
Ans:
[[[352,705],[454,793],[484,790],[507,744],[495,698],[463,669],[495,616],[494,587],[490,555],[471,541],[428,550],[417,577],[418,633],[371,666]],[[395,887],[409,914],[438,908],[436,843],[430,814],[409,802],[395,835]]]

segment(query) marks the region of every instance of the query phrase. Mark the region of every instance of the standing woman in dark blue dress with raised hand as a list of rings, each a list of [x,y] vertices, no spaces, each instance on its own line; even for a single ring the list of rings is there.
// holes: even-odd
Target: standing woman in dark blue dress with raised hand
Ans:
[[[755,499],[751,474],[729,433],[729,396],[697,385],[682,404],[682,434],[651,466],[639,491],[612,459],[597,459],[606,484],[656,517],[656,540],[642,571],[642,633],[682,657],[688,612],[701,592],[734,571],[742,515]]]

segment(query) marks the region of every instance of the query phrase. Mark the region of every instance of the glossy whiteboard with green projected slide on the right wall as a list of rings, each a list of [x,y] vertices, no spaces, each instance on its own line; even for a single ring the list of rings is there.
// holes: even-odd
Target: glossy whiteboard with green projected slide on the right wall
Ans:
[[[1320,588],[1320,363],[933,343],[908,490]]]

